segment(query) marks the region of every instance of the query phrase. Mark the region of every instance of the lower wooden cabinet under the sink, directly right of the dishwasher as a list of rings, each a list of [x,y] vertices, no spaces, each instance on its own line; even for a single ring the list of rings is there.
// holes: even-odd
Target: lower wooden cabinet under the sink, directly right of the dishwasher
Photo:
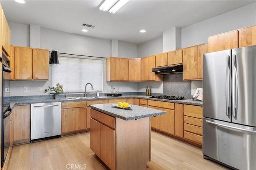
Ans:
[[[61,135],[83,132],[87,129],[86,101],[62,103]]]

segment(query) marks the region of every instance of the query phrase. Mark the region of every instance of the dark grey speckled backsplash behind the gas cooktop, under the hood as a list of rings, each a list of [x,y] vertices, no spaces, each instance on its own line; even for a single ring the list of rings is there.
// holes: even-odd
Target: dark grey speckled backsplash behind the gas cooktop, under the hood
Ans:
[[[191,99],[191,81],[183,81],[183,73],[164,75],[164,95]]]

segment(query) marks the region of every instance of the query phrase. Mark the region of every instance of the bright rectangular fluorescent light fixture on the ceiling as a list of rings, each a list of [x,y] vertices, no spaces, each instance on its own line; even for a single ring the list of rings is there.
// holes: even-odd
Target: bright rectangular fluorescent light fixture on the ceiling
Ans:
[[[113,14],[118,11],[129,0],[105,0],[100,6],[100,10],[112,12]]]

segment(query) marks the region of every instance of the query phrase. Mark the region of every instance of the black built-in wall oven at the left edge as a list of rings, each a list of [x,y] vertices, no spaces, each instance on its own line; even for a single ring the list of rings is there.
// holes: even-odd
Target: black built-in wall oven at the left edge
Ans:
[[[4,165],[4,161],[6,159],[7,152],[10,146],[10,114],[12,113],[12,109],[10,108],[10,61],[7,55],[2,52],[1,58],[2,64],[2,113],[1,113],[1,121],[2,121],[2,136],[1,136],[1,167]]]

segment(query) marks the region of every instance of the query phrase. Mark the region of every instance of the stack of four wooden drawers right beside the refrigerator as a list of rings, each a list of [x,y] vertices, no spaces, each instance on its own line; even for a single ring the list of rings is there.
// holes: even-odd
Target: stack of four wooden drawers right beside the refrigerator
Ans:
[[[202,107],[184,105],[184,138],[202,144]]]

